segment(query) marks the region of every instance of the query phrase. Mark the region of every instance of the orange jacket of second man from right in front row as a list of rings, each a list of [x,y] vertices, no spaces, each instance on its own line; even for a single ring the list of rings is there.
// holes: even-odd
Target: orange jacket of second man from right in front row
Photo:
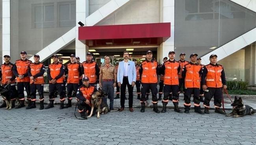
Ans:
[[[182,69],[182,78],[184,78],[185,89],[200,88],[201,66],[198,64],[189,63]]]

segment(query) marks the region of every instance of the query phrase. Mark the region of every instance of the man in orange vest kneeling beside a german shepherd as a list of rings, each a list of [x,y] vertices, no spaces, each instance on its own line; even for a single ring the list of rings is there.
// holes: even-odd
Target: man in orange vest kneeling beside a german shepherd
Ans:
[[[78,88],[76,98],[78,100],[78,112],[81,117],[87,119],[88,112],[91,112],[91,95],[97,91],[94,85],[89,84],[89,78],[83,78],[83,85]]]

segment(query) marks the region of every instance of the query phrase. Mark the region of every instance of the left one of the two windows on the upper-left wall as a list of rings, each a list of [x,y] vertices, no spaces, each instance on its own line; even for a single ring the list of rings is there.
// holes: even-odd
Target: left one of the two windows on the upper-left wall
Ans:
[[[34,28],[54,27],[54,4],[40,4],[33,6]]]

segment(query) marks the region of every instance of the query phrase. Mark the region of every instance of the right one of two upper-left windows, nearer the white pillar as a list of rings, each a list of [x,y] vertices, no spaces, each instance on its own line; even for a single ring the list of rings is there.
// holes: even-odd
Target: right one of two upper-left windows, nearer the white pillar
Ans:
[[[59,27],[71,27],[76,25],[75,1],[59,4]]]

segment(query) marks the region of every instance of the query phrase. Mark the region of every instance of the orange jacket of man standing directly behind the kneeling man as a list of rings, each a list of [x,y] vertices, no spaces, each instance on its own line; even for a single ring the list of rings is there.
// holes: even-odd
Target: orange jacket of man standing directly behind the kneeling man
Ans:
[[[90,80],[90,83],[96,83],[97,76],[100,72],[97,63],[94,61],[91,61],[90,63],[85,61],[82,64],[82,72],[84,74],[84,77],[87,76]]]

